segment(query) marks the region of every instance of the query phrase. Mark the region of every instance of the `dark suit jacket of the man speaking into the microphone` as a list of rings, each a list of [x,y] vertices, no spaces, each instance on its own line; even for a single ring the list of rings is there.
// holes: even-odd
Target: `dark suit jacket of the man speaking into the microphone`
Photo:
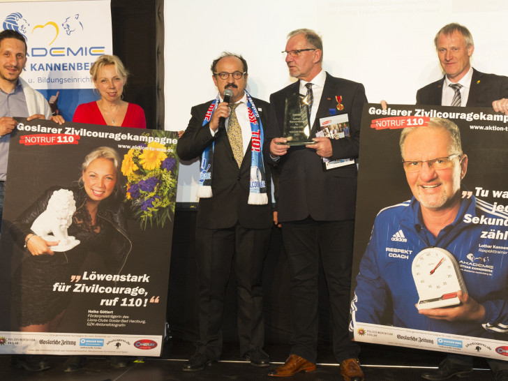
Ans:
[[[264,130],[268,125],[269,103],[253,98],[260,114]],[[274,222],[271,214],[271,177],[269,165],[265,164],[267,174],[268,204],[247,204],[249,179],[251,177],[251,144],[239,168],[234,160],[230,141],[225,130],[218,130],[214,137],[209,124],[203,124],[204,115],[212,101],[192,107],[191,120],[184,135],[177,144],[179,158],[191,160],[201,156],[204,149],[215,142],[214,172],[212,175],[212,197],[200,198],[197,209],[197,227],[204,229],[223,229],[237,222],[248,228],[271,227]],[[258,121],[259,122],[259,121]],[[252,143],[252,142],[251,142]]]

